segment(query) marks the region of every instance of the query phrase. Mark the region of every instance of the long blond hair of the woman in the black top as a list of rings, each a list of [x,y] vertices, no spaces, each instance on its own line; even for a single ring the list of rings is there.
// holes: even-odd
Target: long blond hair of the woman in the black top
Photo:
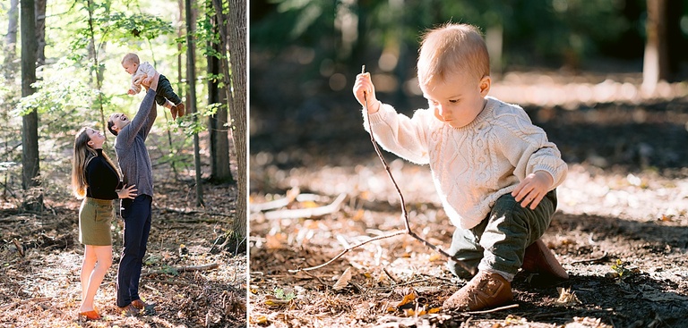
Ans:
[[[72,191],[76,198],[86,197],[86,189],[89,187],[89,183],[86,181],[86,166],[89,165],[90,160],[98,156],[96,149],[89,146],[90,137],[86,130],[91,129],[90,127],[83,127],[76,132],[76,137],[74,138],[74,157],[72,160]],[[92,130],[92,129],[91,129]],[[116,170],[116,166],[110,160],[107,154],[103,153],[103,157],[108,164],[112,165],[115,169],[117,178],[119,172]]]

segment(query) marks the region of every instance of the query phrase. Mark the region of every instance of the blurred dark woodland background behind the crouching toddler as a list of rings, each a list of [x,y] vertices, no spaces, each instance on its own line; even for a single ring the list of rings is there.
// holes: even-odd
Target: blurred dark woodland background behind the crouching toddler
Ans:
[[[250,5],[251,152],[277,153],[259,156],[256,165],[277,161],[281,150],[288,154],[286,147],[334,138],[328,137],[332,122],[339,128],[359,121],[351,114],[358,105],[350,88],[362,64],[383,101],[402,113],[424,106],[416,80],[418,41],[426,29],[448,21],[483,31],[497,83],[511,71],[545,71],[546,80],[583,81],[587,88],[609,80],[614,88],[606,93],[619,93],[624,84],[628,94],[639,95],[643,80],[652,94],[658,85],[686,76],[686,0],[256,0]],[[598,80],[583,80],[583,72],[596,73]],[[319,124],[331,129],[318,135],[310,127]],[[284,154],[280,158],[288,161]]]

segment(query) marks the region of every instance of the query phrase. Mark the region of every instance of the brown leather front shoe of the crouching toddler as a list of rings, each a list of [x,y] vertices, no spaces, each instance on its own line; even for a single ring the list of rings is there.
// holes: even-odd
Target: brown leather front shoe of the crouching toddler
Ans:
[[[513,300],[512,283],[499,273],[479,272],[466,286],[444,301],[445,310],[477,311]]]

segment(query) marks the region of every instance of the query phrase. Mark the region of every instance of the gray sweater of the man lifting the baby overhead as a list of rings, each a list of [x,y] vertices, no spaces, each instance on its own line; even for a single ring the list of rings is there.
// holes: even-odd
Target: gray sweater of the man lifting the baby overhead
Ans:
[[[132,122],[119,131],[115,139],[117,162],[126,186],[136,185],[138,195],[153,197],[153,170],[145,141],[153,126],[158,109],[155,91],[149,89]]]

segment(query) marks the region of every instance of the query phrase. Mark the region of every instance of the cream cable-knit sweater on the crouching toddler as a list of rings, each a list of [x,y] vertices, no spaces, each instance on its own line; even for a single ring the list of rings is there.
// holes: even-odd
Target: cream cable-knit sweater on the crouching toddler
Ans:
[[[437,120],[430,109],[409,118],[383,104],[370,115],[375,140],[385,150],[430,164],[444,211],[465,229],[485,219],[497,198],[512,192],[528,174],[548,172],[555,189],[568,170],[559,149],[520,106],[486,99],[476,119],[459,129]],[[370,132],[365,110],[363,114]]]

